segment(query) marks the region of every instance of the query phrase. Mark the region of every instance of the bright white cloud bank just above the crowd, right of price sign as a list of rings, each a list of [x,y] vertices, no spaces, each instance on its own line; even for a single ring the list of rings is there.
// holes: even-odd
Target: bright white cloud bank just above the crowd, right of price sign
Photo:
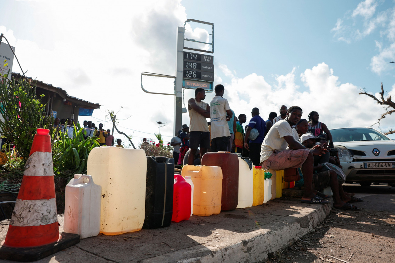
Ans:
[[[225,95],[231,108],[238,116],[249,116],[253,107],[258,107],[262,118],[270,112],[278,112],[280,105],[288,107],[297,105],[303,109],[302,118],[307,118],[310,111],[320,113],[320,120],[329,129],[339,127],[363,127],[376,122],[383,109],[371,98],[358,93],[361,88],[351,83],[340,83],[333,69],[320,63],[300,74],[300,80],[308,88],[300,91],[295,83],[296,69],[285,75],[276,76],[276,84],[271,86],[263,76],[250,74],[245,78],[232,78],[225,86]],[[395,85],[393,87],[395,91]],[[206,98],[207,100],[208,98]],[[392,125],[386,119],[382,128]]]

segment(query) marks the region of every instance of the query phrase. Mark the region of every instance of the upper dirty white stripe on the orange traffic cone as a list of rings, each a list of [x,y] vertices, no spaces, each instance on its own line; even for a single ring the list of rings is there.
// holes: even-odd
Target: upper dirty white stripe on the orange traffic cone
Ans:
[[[52,153],[36,151],[26,161],[25,172],[28,176],[51,176],[53,175]]]

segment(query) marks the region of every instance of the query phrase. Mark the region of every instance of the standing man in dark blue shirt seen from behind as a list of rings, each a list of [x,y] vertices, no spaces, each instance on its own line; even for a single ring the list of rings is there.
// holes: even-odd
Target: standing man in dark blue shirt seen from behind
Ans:
[[[251,116],[252,119],[250,119],[250,123],[248,123],[248,127],[244,138],[244,147],[248,149],[252,163],[255,166],[259,166],[261,159],[261,144],[263,142],[263,138],[265,138],[266,123],[261,118],[261,116],[259,116],[258,108],[252,109]],[[258,130],[258,136],[254,140],[250,140],[250,145],[248,145],[247,140],[249,140],[248,137],[250,136],[252,129]]]

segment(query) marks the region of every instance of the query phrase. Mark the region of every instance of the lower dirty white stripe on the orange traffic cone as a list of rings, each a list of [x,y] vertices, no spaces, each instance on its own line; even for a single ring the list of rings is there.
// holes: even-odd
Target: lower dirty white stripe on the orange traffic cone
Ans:
[[[42,226],[58,222],[56,198],[20,200],[15,203],[9,224],[12,226]]]

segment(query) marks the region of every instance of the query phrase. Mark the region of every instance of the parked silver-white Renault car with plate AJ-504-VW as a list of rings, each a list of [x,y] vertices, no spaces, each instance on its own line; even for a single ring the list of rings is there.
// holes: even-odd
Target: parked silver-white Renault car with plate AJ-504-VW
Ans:
[[[342,128],[330,130],[346,182],[361,186],[395,183],[395,141],[375,129]]]

